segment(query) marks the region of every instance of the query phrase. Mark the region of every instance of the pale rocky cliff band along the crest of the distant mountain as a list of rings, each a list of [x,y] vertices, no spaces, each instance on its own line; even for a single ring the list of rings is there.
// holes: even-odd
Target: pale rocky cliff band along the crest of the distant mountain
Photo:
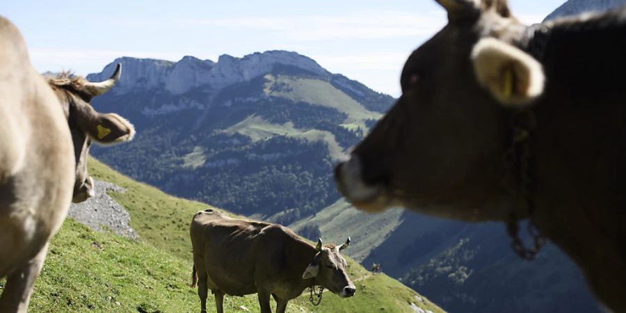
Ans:
[[[90,81],[107,79],[117,63],[122,63],[123,71],[120,88],[113,91],[118,94],[130,90],[164,89],[173,95],[181,95],[200,86],[221,89],[262,76],[271,72],[275,65],[297,67],[320,77],[330,77],[330,73],[311,58],[289,51],[266,51],[243,58],[224,54],[217,63],[193,56],[185,56],[178,62],[122,57],[106,65],[101,73],[89,74],[87,78]]]

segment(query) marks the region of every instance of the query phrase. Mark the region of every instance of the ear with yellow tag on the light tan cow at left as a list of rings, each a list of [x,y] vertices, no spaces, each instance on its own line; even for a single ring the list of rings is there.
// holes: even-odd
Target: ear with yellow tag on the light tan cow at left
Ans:
[[[131,141],[135,136],[135,127],[115,113],[98,114],[97,118],[86,126],[86,131],[90,138],[104,145]]]

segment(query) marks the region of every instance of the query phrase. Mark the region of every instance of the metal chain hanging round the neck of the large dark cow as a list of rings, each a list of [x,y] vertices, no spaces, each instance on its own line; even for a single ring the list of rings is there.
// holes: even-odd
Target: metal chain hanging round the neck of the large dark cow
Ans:
[[[516,175],[519,182],[517,188],[513,188],[513,193],[519,193],[526,202],[529,223],[528,232],[533,239],[533,247],[527,248],[520,238],[519,218],[515,214],[509,216],[506,223],[508,236],[511,237],[511,247],[522,259],[533,260],[545,243],[544,237],[533,225],[532,214],[535,210],[531,193],[531,143],[530,135],[536,124],[535,115],[531,110],[518,111],[513,114],[513,143],[506,153],[506,163],[509,172]]]

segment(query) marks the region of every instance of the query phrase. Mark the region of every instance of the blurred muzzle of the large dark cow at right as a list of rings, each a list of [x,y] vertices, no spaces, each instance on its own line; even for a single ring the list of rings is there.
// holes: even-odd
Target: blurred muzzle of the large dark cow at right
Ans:
[[[335,184],[339,192],[362,211],[383,211],[390,207],[385,186],[364,182],[363,170],[360,158],[356,154],[352,154],[348,161],[337,164]]]

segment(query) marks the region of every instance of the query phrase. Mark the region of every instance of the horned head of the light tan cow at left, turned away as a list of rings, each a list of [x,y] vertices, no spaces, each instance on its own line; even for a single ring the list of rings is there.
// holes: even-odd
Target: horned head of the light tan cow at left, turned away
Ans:
[[[87,172],[87,156],[92,141],[111,145],[130,141],[135,129],[125,118],[115,113],[99,113],[90,101],[109,91],[120,79],[122,65],[118,64],[111,78],[93,83],[82,77],[63,73],[48,83],[61,101],[70,127],[76,158],[76,180],[72,202],[83,202],[94,195],[93,179]]]

